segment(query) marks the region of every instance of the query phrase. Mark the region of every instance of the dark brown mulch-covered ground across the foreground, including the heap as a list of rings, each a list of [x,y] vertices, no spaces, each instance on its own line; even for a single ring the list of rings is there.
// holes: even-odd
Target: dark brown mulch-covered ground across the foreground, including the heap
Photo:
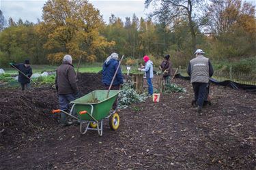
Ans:
[[[104,88],[100,75],[79,76],[83,95]],[[102,137],[61,128],[52,87],[1,90],[0,169],[256,169],[256,94],[211,84],[212,105],[197,115],[189,82],[175,83],[187,92],[122,109]]]

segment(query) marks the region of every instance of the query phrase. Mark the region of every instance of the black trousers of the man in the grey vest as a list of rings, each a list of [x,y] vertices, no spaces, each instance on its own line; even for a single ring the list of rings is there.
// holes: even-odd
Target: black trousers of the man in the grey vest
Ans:
[[[199,107],[203,107],[203,101],[205,100],[206,87],[208,86],[208,83],[193,82],[192,86],[194,90],[195,101],[197,101],[197,105]]]

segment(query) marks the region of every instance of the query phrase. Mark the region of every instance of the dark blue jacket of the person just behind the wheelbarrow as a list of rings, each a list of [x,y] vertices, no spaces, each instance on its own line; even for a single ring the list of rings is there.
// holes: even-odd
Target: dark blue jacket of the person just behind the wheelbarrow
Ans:
[[[116,61],[115,59],[110,59],[108,63],[103,64],[103,72],[102,72],[102,83],[109,86],[111,84],[112,78],[115,75],[115,71],[117,70],[117,67],[119,65],[119,61]],[[120,85],[123,84],[123,77],[122,77],[122,71],[119,67],[117,71],[117,75],[115,76],[115,80],[113,82],[113,85]]]

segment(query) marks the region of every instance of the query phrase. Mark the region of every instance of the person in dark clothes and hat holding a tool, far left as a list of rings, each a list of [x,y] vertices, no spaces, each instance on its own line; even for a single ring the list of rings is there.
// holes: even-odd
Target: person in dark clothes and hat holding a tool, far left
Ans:
[[[10,63],[10,65],[14,67],[14,69],[18,70],[18,82],[20,82],[21,90],[30,88],[30,78],[33,73],[32,68],[30,67],[29,59],[26,59],[24,63]]]

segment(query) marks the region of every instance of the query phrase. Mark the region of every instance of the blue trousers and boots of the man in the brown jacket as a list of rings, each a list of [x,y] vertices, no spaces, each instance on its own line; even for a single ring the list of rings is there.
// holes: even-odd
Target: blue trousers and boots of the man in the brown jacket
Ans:
[[[59,95],[59,109],[68,112],[70,101],[74,101],[75,99],[74,94]],[[75,114],[76,112],[72,112],[73,116],[75,116]],[[61,113],[61,123],[66,124],[66,114]]]

